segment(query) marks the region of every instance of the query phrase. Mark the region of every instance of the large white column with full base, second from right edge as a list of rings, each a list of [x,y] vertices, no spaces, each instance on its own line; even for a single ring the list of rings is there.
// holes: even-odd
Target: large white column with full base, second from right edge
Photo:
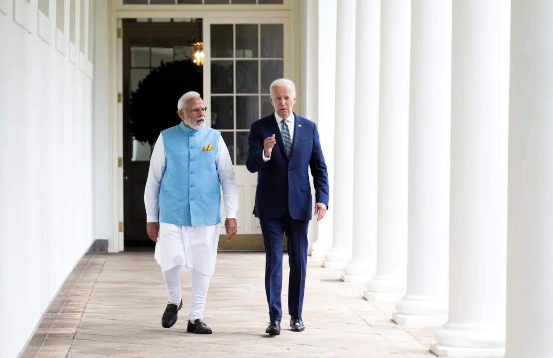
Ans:
[[[454,0],[452,13],[449,316],[430,348],[496,357],[505,346],[509,3]]]

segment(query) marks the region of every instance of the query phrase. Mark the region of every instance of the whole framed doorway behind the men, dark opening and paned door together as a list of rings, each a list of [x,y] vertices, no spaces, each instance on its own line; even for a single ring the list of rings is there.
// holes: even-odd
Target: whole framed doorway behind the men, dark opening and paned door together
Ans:
[[[122,162],[117,169],[120,186],[114,191],[119,197],[114,210],[119,213],[120,220],[118,235],[114,236],[113,242],[116,250],[151,250],[154,246],[145,233],[143,195],[156,136],[153,139],[139,136],[135,140],[129,114],[133,92],[140,87],[140,81],[146,82],[148,76],[163,66],[161,61],[167,64],[189,58],[188,62],[192,63],[190,54],[194,51],[185,49],[192,40],[203,40],[205,62],[197,68],[201,71],[203,83],[188,90],[200,92],[208,107],[206,124],[221,132],[231,153],[240,193],[238,235],[233,242],[227,243],[222,227],[219,250],[263,250],[259,221],[252,215],[257,175],[249,173],[244,162],[249,124],[272,112],[268,83],[278,77],[298,77],[295,71],[298,60],[294,56],[297,49],[292,36],[296,28],[293,15],[297,9],[291,4],[262,5],[259,2],[236,10],[232,6],[212,5],[205,6],[205,11],[192,10],[192,6],[190,11],[185,11],[187,6],[181,5],[174,6],[171,12],[175,18],[165,18],[167,12],[156,12],[153,9],[158,6],[154,5],[144,6],[149,10],[142,14],[149,15],[149,18],[137,17],[137,12],[121,16],[126,5],[114,7],[121,7],[120,12],[114,13],[114,24],[121,29],[116,57],[121,82],[116,88],[122,97],[117,104],[117,126],[121,128],[121,134],[114,134],[118,138],[120,149],[117,152]],[[273,9],[256,10],[265,7]],[[167,82],[178,81],[173,78]],[[159,86],[165,90],[163,87]],[[172,125],[175,125],[178,124],[175,104],[187,90],[178,92],[178,97],[170,99],[166,105],[150,98],[139,102],[148,104],[143,106],[147,109],[169,108],[169,115],[154,113],[151,117],[157,121],[174,116],[177,122]],[[167,97],[159,93],[156,96],[159,100]],[[166,124],[169,126],[171,124]],[[221,212],[224,220],[223,207]]]

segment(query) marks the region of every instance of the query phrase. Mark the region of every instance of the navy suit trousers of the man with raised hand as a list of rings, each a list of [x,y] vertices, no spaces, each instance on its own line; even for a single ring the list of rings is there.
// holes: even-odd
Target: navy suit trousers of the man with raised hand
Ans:
[[[283,236],[288,240],[288,313],[301,317],[307,270],[307,227],[309,221],[294,220],[286,213],[279,219],[259,219],[265,245],[265,293],[270,320],[282,319]]]

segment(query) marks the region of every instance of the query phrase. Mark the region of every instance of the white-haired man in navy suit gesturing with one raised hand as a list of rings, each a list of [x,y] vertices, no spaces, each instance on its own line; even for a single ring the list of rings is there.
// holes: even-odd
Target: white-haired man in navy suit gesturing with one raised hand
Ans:
[[[288,239],[290,330],[305,329],[301,318],[307,265],[307,227],[311,220],[311,185],[315,187],[317,221],[328,209],[328,174],[314,122],[293,113],[294,82],[280,78],[270,86],[273,114],[253,122],[246,166],[257,172],[253,213],[259,218],[265,245],[265,293],[269,304],[266,333],[280,334],[282,318],[283,235]]]

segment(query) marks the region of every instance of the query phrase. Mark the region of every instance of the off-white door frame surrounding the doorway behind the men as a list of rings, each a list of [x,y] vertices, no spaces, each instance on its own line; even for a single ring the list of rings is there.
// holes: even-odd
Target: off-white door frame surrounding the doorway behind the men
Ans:
[[[109,141],[109,205],[110,235],[108,240],[108,252],[121,252],[124,250],[124,223],[123,223],[123,168],[119,167],[119,158],[123,157],[123,104],[118,103],[117,94],[123,90],[123,41],[117,37],[117,32],[121,28],[123,18],[202,18],[205,23],[263,23],[271,22],[275,18],[285,20],[284,28],[284,75],[293,79],[296,86],[299,86],[299,1],[283,0],[284,4],[274,5],[253,5],[242,6],[232,5],[122,5],[122,0],[111,1],[109,9],[109,124],[111,132],[111,141]],[[259,7],[263,7],[259,10]],[[249,11],[252,10],[252,11]],[[252,19],[252,15],[255,17]],[[204,27],[204,36],[206,35]],[[206,37],[204,37],[206,38]],[[289,41],[286,41],[289,39]],[[205,42],[205,41],[204,41]],[[207,47],[207,46],[204,46]],[[287,56],[288,54],[288,56]],[[294,54],[298,54],[294,56]],[[208,54],[206,54],[206,63],[209,63]],[[207,66],[206,66],[207,67]],[[204,88],[210,89],[211,83],[207,83],[209,70],[204,67]],[[286,71],[286,68],[291,71]],[[204,92],[207,92],[204,89]],[[209,101],[206,98],[206,102]],[[206,103],[210,105],[210,103]],[[301,103],[296,106],[300,110]],[[211,114],[208,113],[207,116]],[[211,118],[207,118],[211,121]],[[253,174],[252,174],[253,175]],[[244,203],[247,205],[247,203]],[[253,201],[251,203],[253,207]]]

